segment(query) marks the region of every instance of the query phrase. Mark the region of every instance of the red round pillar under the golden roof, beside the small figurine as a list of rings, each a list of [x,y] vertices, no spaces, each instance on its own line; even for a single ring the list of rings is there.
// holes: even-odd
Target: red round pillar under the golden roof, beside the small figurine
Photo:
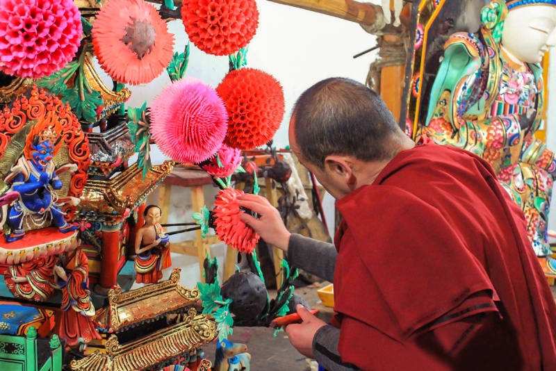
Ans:
[[[110,289],[117,283],[117,263],[120,257],[120,224],[116,228],[103,226],[99,285]]]

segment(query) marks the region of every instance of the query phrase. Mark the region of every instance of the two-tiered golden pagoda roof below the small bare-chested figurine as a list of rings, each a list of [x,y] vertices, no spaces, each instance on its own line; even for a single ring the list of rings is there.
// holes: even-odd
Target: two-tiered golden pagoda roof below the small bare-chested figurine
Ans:
[[[108,306],[93,319],[108,338],[104,352],[73,361],[72,370],[161,370],[172,363],[192,371],[209,370],[211,363],[196,354],[216,338],[216,324],[197,315],[199,291],[179,285],[180,271],[176,268],[168,281],[137,290],[110,290]]]

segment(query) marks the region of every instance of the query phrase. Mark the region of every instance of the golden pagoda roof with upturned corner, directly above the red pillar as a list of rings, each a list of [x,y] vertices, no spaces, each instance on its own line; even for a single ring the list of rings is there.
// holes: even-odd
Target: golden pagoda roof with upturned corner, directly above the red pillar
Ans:
[[[88,179],[81,195],[76,220],[119,220],[127,209],[136,208],[142,199],[172,172],[172,162],[153,166],[145,179],[137,163],[112,179]]]

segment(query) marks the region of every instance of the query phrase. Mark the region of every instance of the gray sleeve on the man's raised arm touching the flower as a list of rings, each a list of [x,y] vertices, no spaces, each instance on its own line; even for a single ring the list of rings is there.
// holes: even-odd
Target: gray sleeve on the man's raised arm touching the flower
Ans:
[[[338,252],[332,243],[321,242],[292,233],[288,261],[293,267],[332,282]]]

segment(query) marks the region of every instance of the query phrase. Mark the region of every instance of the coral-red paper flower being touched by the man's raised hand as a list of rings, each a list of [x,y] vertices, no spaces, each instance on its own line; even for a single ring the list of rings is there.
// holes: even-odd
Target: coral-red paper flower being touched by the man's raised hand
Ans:
[[[216,234],[220,240],[240,252],[251,254],[259,242],[259,234],[239,219],[243,210],[236,199],[243,195],[243,190],[226,188],[220,190],[214,201]]]

